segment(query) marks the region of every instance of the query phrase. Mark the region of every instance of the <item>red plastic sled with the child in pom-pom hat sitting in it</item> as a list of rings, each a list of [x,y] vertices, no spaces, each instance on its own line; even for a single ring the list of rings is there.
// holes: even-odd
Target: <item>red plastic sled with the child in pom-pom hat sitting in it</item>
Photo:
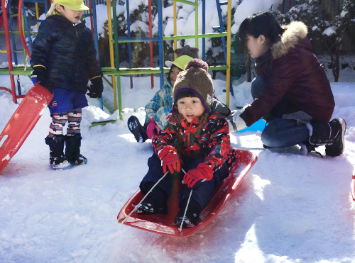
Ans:
[[[182,189],[182,184],[180,181],[175,180],[173,186],[173,191],[170,194],[168,200],[168,215],[139,215],[137,213],[132,213],[129,218],[126,219],[124,225],[130,225],[133,228],[139,228],[153,233],[158,233],[161,235],[168,235],[171,237],[188,237],[196,233],[201,228],[204,228],[212,219],[217,216],[217,214],[222,210],[226,202],[229,200],[236,188],[244,179],[246,173],[253,164],[258,160],[258,157],[247,150],[236,150],[239,154],[238,160],[234,163],[232,167],[231,175],[224,179],[216,189],[214,189],[214,194],[211,203],[204,208],[200,215],[200,222],[195,228],[182,228],[180,232],[179,227],[173,225],[174,218],[179,211],[178,198],[180,191]],[[117,220],[119,223],[124,221],[134,207],[141,201],[143,194],[140,190],[133,194],[133,196],[127,201],[124,207],[119,212]]]

